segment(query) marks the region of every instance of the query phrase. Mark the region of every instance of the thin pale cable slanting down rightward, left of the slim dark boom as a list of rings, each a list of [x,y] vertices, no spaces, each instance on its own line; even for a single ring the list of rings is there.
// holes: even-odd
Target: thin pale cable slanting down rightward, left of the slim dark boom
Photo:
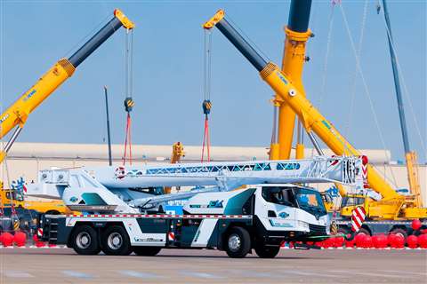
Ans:
[[[378,131],[381,143],[383,144],[385,161],[387,161],[387,162],[390,163],[390,157],[388,156],[387,150],[386,150],[387,146],[386,146],[385,140],[383,138],[383,131],[381,130],[380,122],[378,121],[378,117],[377,117],[376,112],[375,112],[374,102],[372,101],[371,93],[369,91],[369,88],[367,87],[367,81],[365,79],[365,75],[363,73],[363,70],[362,70],[362,67],[361,67],[361,64],[360,64],[360,59],[358,57],[358,52],[356,51],[356,46],[354,44],[353,37],[351,36],[351,32],[350,32],[349,22],[347,20],[347,16],[345,14],[344,7],[343,7],[342,4],[340,4],[340,10],[341,10],[341,13],[342,13],[342,20],[344,21],[345,29],[347,31],[347,36],[349,36],[351,50],[353,51],[353,55],[354,55],[354,57],[356,59],[356,67],[358,68],[359,75],[360,75],[360,78],[362,80],[363,87],[365,89],[365,94],[367,95],[367,100],[369,102],[369,106],[371,108],[371,112],[372,112],[372,114],[374,116],[374,122],[375,122],[376,130]],[[375,166],[373,165],[373,167],[375,167]],[[393,180],[394,180],[394,185],[396,186],[397,185],[396,177],[394,176],[394,173],[393,173],[392,170],[391,170],[391,175],[392,175]]]

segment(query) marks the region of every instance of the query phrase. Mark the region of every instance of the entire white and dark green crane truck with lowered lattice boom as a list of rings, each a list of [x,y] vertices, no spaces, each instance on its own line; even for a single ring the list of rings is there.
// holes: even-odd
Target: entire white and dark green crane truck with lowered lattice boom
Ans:
[[[274,257],[282,241],[327,238],[329,218],[318,191],[288,183],[363,186],[356,157],[206,162],[43,170],[28,194],[62,198],[82,215],[46,215],[42,240],[78,254],[154,256],[162,248],[218,248]],[[145,196],[149,186],[197,185],[189,192]],[[246,185],[241,188],[242,185]],[[184,200],[183,214],[162,210]]]

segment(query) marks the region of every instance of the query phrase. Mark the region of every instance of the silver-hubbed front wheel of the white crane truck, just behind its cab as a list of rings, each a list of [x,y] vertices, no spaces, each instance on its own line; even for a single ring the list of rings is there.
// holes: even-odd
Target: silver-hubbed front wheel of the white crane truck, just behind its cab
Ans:
[[[233,258],[242,258],[251,250],[251,236],[242,227],[233,227],[225,238],[225,251]]]

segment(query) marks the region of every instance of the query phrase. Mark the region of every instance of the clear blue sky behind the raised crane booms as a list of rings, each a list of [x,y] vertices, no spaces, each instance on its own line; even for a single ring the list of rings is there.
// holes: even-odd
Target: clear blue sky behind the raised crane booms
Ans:
[[[132,19],[134,32],[133,143],[200,145],[203,135],[203,30],[219,8],[277,63],[283,51],[288,1],[0,1],[1,103],[9,106],[60,57],[119,7]],[[359,43],[365,1],[345,1],[354,41]],[[403,159],[391,63],[376,1],[367,9],[361,65],[375,112],[393,160]],[[416,119],[426,135],[426,4],[389,1],[392,33],[399,52]],[[304,83],[308,97],[343,133],[349,125],[355,59],[338,7],[322,96],[330,1],[314,2],[310,62]],[[213,36],[211,115],[214,146],[269,146],[272,92],[246,59],[220,34]],[[31,114],[19,141],[101,143],[106,137],[102,86],[109,85],[112,139],[123,143],[125,111],[125,32],[118,31],[78,67],[58,91]],[[357,91],[347,138],[357,148],[383,148],[366,93]],[[320,101],[320,97],[323,97]],[[407,106],[407,100],[405,100]],[[407,107],[412,147],[425,162],[422,142]],[[423,157],[424,156],[424,157]]]

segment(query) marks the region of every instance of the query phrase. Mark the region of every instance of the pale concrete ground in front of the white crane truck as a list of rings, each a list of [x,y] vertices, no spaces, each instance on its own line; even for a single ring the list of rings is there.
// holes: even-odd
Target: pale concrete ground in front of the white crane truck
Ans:
[[[426,250],[282,249],[275,259],[215,250],[77,256],[68,248],[0,248],[0,283],[427,283]]]

